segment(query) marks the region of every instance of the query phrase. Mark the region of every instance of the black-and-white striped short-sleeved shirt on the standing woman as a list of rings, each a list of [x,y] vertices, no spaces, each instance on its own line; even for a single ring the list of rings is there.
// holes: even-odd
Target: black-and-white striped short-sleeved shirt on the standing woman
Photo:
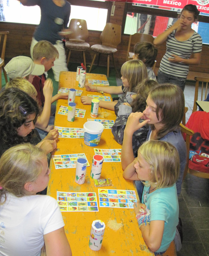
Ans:
[[[168,26],[168,28],[171,25]],[[166,42],[166,53],[161,59],[159,70],[165,74],[186,78],[189,72],[189,65],[168,61],[172,54],[178,55],[183,59],[189,59],[192,53],[202,51],[202,38],[194,31],[194,34],[186,41],[178,41],[175,38],[176,30],[169,34]]]

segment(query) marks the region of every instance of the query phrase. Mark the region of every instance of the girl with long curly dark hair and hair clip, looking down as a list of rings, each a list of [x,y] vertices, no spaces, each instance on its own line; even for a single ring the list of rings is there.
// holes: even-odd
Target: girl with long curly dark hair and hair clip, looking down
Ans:
[[[41,141],[35,128],[40,114],[37,102],[17,88],[5,89],[0,94],[0,156],[14,145],[30,142],[47,153],[56,148],[56,141],[50,135]]]

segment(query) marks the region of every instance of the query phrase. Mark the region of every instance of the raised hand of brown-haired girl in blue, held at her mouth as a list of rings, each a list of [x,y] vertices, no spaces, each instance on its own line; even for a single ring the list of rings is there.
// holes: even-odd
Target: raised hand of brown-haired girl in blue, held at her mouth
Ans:
[[[144,114],[141,112],[131,113],[127,119],[124,133],[133,134],[135,131],[139,130],[145,124],[150,122],[149,119],[139,122],[140,119],[144,119]]]

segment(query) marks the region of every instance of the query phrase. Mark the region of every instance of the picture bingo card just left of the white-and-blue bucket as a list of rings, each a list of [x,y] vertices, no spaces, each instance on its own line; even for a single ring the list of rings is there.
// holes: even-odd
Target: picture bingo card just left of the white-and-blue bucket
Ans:
[[[59,138],[84,138],[83,128],[69,128],[60,126],[55,126],[54,128],[58,129]]]

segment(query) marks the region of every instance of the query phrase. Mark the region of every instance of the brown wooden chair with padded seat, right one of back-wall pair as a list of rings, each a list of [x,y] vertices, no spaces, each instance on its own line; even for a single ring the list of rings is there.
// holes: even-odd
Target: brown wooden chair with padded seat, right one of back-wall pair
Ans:
[[[107,54],[107,77],[109,77],[110,54],[112,54],[114,68],[117,73],[113,53],[117,51],[116,47],[121,42],[121,26],[114,23],[106,23],[105,28],[100,35],[100,40],[102,41],[102,44],[94,44],[91,46],[91,50],[95,51],[95,54],[91,62],[89,73],[91,72],[92,66],[94,64],[96,54],[99,53],[100,58],[100,54],[103,53]]]

